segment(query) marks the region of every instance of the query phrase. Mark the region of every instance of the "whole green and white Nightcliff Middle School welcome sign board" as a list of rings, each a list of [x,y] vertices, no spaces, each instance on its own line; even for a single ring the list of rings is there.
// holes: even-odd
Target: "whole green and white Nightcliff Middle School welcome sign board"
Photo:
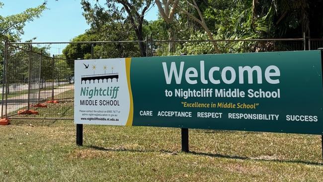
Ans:
[[[75,61],[75,123],[323,134],[321,51]]]

